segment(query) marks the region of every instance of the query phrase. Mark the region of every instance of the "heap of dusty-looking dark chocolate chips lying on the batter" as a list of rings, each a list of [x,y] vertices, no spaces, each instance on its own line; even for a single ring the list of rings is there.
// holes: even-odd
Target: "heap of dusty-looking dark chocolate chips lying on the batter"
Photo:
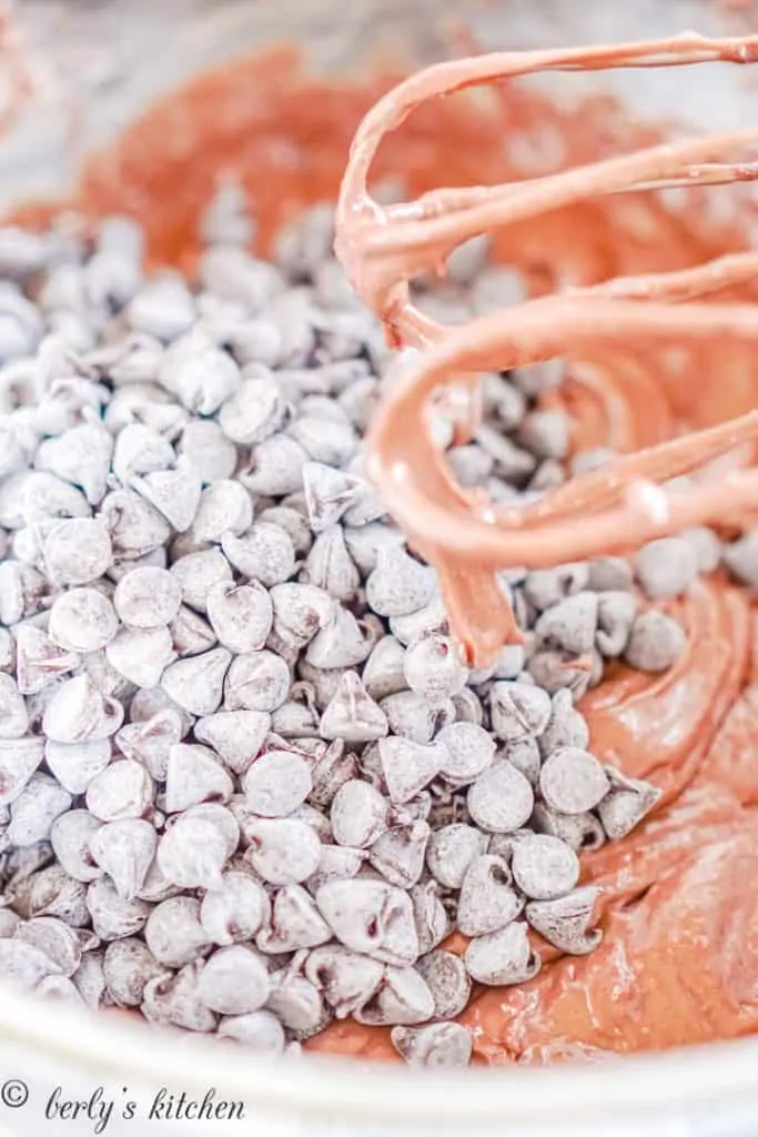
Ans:
[[[683,630],[640,598],[723,555],[755,583],[756,541],[510,567],[526,644],[470,670],[364,478],[390,360],[332,209],[272,263],[253,229],[222,186],[197,287],[145,279],[125,218],[0,230],[0,973],[275,1053],[352,1015],[465,1064],[472,982],[532,978],[532,930],[591,952],[580,854],[658,797],[576,700],[608,661],[675,664]],[[513,288],[475,241],[422,299]],[[485,376],[467,446],[439,417],[461,483],[525,500],[607,457],[569,460],[538,408],[560,379]]]

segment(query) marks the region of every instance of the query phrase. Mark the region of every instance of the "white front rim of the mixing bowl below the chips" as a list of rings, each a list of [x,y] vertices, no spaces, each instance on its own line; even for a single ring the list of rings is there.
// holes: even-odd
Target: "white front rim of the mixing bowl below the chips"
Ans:
[[[231,1045],[219,1052],[206,1036],[93,1013],[3,982],[0,1043],[73,1064],[76,1073],[131,1079],[144,1088],[168,1084],[205,1092],[210,1074],[225,1101],[255,1103],[258,1121],[268,1110],[272,1119],[328,1118],[356,1126],[490,1123],[502,1131],[506,1123],[527,1130],[549,1123],[559,1131],[563,1124],[611,1118],[618,1123],[622,1114],[625,1123],[660,1119],[666,1111],[681,1115],[684,1106],[702,1118],[708,1107],[720,1112],[728,1103],[747,1103],[758,1117],[757,1037],[586,1064],[420,1072],[326,1055],[268,1059]]]

